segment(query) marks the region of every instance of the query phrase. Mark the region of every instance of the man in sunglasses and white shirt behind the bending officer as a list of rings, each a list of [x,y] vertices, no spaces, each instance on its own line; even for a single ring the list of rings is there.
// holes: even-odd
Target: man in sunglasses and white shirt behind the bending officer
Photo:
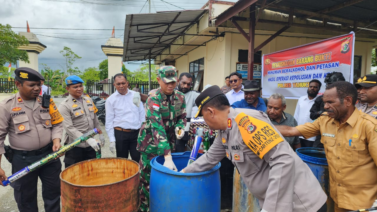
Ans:
[[[228,98],[229,104],[233,104],[236,101],[241,101],[245,98],[245,94],[241,91],[244,86],[242,85],[242,75],[238,72],[233,72],[229,75],[229,83],[231,90],[225,94]]]

